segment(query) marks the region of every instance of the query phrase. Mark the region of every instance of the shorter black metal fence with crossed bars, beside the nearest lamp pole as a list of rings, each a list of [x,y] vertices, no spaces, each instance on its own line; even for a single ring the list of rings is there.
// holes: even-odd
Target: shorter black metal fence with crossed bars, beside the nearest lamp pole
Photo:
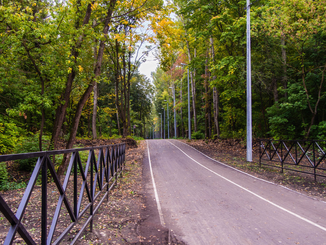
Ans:
[[[259,140],[259,166],[326,177],[326,140]],[[272,164],[272,163],[274,164]]]

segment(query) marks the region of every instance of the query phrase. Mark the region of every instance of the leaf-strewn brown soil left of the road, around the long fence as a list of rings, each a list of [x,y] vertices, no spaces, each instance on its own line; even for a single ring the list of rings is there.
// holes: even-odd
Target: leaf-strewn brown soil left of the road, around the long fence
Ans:
[[[147,219],[149,218],[149,207],[146,208],[145,196],[142,194],[142,160],[146,148],[145,140],[138,142],[133,139],[77,140],[75,142],[75,147],[81,148],[117,144],[121,142],[126,142],[126,160],[123,176],[118,179],[117,186],[110,191],[108,202],[104,201],[94,216],[93,232],[90,232],[90,229],[87,228],[76,244],[183,245],[184,243],[177,241],[173,234],[171,235],[169,233],[168,229],[161,227],[160,225],[151,226],[149,225],[149,222],[147,222]],[[61,146],[60,148],[64,148],[65,142],[62,141],[59,145]],[[14,162],[8,162],[7,169],[11,181],[28,181],[30,177],[30,172],[19,171],[18,165]],[[81,179],[79,179],[79,182],[81,182]],[[71,185],[67,188],[67,196],[72,205],[73,200],[69,199],[69,197],[72,196],[72,181],[70,181],[70,184]],[[2,191],[0,194],[12,211],[16,213],[24,194],[24,188],[8,190],[5,192]],[[58,202],[58,196],[59,193],[54,183],[48,183],[48,232]],[[97,200],[100,200],[101,198],[102,196]],[[86,194],[84,194],[83,200],[84,199],[87,200]],[[41,187],[36,186],[24,213],[22,224],[38,244],[40,244],[41,224],[40,203]],[[64,231],[65,227],[67,227],[70,222],[64,204],[62,205],[62,209],[64,210],[61,210],[60,212],[62,215],[60,215],[53,241],[62,231]],[[85,219],[76,225],[60,244],[70,244],[75,235],[81,229],[84,221]],[[9,228],[9,222],[4,218],[2,213],[0,213],[0,244],[4,244]],[[26,243],[17,233],[13,244]]]

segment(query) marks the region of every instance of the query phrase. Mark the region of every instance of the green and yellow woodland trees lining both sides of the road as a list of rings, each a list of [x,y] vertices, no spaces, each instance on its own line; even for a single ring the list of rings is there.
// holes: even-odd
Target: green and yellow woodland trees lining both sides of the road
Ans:
[[[250,9],[254,137],[325,139],[326,0]],[[158,113],[186,137],[187,70],[193,138],[245,138],[245,14],[233,0],[0,1],[0,153],[31,135],[37,150],[150,138]],[[153,50],[151,82],[138,68]]]

